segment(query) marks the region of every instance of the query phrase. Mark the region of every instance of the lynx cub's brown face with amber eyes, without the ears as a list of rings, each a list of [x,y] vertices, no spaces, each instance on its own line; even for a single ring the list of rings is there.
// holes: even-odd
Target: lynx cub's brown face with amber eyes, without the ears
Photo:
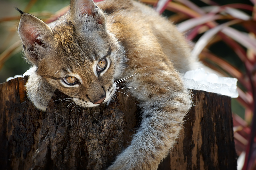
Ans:
[[[80,106],[110,100],[124,65],[115,38],[102,30],[76,30],[71,22],[51,29],[54,38],[37,73]]]

